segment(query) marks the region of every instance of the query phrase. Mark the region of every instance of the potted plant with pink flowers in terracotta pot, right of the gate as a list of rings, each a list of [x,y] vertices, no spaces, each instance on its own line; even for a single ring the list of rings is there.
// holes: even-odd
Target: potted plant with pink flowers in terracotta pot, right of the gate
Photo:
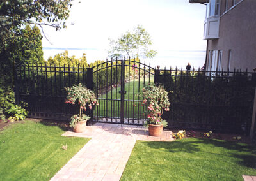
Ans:
[[[141,105],[147,105],[147,118],[145,127],[148,127],[150,136],[161,136],[163,127],[167,127],[166,120],[161,118],[163,111],[169,111],[170,103],[168,92],[162,85],[149,85],[143,87],[143,101]]]

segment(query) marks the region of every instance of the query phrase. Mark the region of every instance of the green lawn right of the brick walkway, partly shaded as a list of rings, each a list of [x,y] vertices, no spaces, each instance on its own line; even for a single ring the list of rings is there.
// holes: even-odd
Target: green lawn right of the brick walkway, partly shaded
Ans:
[[[242,175],[256,175],[255,168],[255,147],[243,143],[137,141],[121,180],[243,180]]]

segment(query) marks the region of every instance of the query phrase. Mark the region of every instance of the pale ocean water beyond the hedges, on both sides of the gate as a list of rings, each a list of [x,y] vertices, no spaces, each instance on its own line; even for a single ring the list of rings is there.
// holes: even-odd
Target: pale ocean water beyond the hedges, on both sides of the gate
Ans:
[[[50,56],[54,57],[65,50],[68,50],[69,56],[75,55],[77,58],[82,57],[85,53],[88,63],[109,59],[105,50],[97,50],[96,48],[43,48],[44,59],[47,60]],[[186,68],[189,62],[191,67],[198,69],[204,65],[205,54],[204,50],[159,50],[153,59],[142,58],[141,61],[145,61],[152,67],[159,65],[160,68],[166,67],[166,69],[170,69],[170,67]]]

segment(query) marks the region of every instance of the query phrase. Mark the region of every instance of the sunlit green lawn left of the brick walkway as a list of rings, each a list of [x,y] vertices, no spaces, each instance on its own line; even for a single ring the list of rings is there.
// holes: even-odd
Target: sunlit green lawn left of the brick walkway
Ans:
[[[1,131],[0,180],[50,180],[90,140],[63,133],[58,126],[32,121]]]

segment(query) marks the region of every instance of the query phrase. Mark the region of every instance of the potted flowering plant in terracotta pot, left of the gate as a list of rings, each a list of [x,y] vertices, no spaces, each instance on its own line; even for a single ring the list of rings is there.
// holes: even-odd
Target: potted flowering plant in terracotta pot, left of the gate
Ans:
[[[76,101],[80,106],[80,112],[77,115],[73,115],[70,120],[70,127],[73,127],[73,131],[81,133],[85,131],[86,122],[90,117],[83,114],[83,110],[86,111],[86,105],[92,109],[93,105],[99,105],[94,92],[84,87],[81,83],[73,85],[72,87],[65,87],[67,91],[67,99],[65,103],[75,104]]]

